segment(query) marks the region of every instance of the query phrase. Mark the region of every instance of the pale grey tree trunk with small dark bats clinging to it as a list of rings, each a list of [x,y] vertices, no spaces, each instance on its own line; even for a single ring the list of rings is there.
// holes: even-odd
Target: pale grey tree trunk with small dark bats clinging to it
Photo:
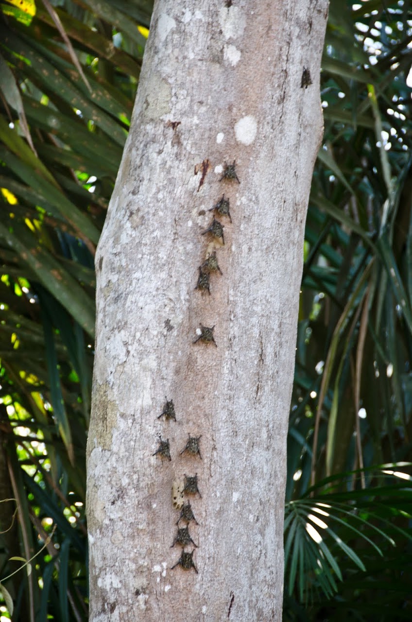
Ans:
[[[281,620],[326,18],[327,0],[154,7],[96,257],[93,622]]]

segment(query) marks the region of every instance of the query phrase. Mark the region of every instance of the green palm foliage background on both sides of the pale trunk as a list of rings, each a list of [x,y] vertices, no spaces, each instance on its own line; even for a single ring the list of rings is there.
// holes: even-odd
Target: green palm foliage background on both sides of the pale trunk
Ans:
[[[16,621],[87,620],[93,256],[151,5],[0,1],[0,578]],[[412,618],[410,9],[330,5],[288,437],[285,620]]]

